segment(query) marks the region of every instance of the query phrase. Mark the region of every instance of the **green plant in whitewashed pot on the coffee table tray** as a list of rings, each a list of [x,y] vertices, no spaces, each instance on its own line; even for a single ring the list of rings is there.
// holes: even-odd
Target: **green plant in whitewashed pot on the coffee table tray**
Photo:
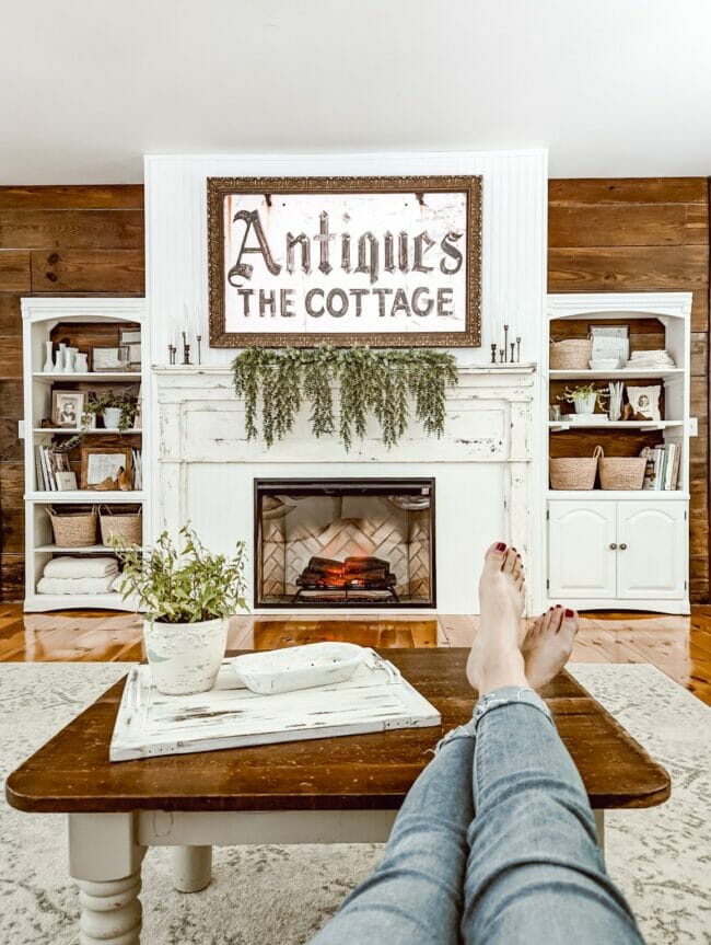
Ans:
[[[165,695],[212,689],[224,657],[230,618],[246,610],[245,545],[234,557],[212,554],[188,526],[178,550],[163,532],[154,548],[114,545],[124,564],[124,599],[144,611],[143,638],[153,682]]]

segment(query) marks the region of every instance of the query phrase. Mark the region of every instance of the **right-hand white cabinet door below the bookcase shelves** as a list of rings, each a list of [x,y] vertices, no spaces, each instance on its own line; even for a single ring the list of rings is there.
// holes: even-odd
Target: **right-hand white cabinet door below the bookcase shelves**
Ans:
[[[684,598],[684,502],[617,503],[617,593],[622,600]]]

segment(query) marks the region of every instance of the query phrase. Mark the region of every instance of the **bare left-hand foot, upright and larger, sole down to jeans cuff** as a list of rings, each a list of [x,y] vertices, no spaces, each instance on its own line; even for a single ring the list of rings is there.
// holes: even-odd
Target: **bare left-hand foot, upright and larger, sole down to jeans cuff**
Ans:
[[[480,696],[503,685],[528,685],[518,647],[524,585],[515,549],[491,545],[479,579],[479,632],[467,660],[467,679]]]

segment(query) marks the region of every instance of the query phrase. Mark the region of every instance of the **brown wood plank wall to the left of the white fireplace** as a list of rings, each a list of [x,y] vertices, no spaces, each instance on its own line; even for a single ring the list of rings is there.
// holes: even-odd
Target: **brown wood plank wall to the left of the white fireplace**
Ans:
[[[22,296],[143,295],[143,188],[0,187],[0,599],[24,593]]]

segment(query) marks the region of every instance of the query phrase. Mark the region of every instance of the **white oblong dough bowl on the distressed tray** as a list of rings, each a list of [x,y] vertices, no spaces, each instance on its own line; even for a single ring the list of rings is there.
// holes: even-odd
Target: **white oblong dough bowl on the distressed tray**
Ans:
[[[354,643],[310,643],[235,656],[230,664],[247,689],[271,695],[343,682],[366,655],[368,650]]]

